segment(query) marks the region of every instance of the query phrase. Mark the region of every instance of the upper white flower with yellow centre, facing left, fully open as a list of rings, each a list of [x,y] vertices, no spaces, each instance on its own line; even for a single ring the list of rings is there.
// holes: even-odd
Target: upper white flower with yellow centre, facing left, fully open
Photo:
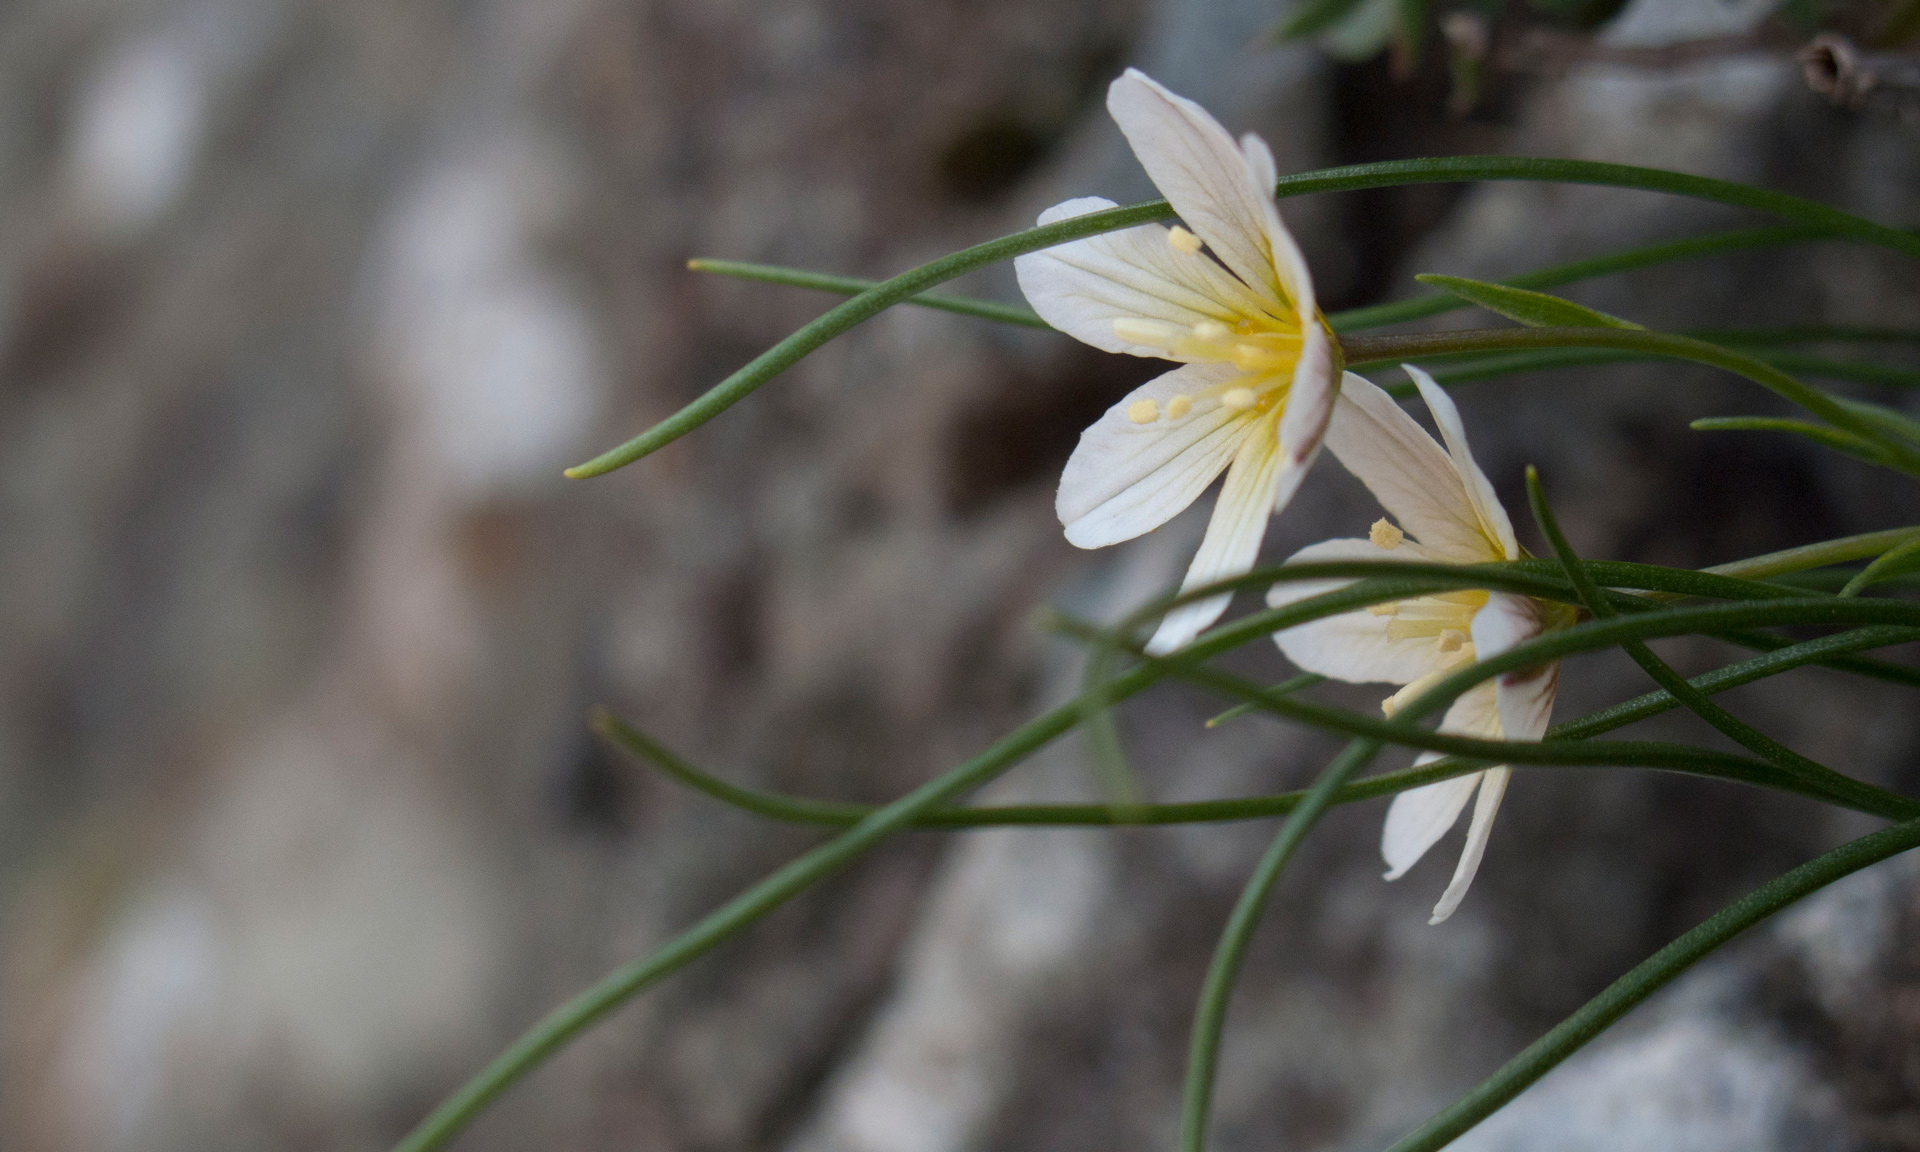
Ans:
[[[1071,543],[1104,547],[1165,524],[1225,470],[1181,586],[1196,588],[1254,566],[1267,516],[1313,463],[1338,388],[1334,344],[1273,204],[1273,154],[1260,136],[1235,144],[1206,109],[1135,69],[1114,81],[1106,108],[1187,227],[1106,232],[1021,255],[1014,269],[1048,324],[1181,367],[1081,434],[1054,507]],[[1114,202],[1068,200],[1041,223],[1104,207]],[[1229,599],[1167,612],[1148,651],[1185,645]]]

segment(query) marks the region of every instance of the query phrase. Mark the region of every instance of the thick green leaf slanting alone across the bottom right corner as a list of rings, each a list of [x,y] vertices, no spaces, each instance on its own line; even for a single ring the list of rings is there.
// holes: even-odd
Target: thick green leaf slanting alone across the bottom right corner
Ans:
[[[1471,1092],[1446,1106],[1432,1119],[1400,1139],[1388,1152],[1438,1152],[1480,1123],[1507,1100],[1572,1056],[1607,1025],[1665,987],[1703,956],[1780,912],[1788,904],[1889,856],[1920,847],[1920,820],[1895,824],[1801,864],[1740,900],[1728,904],[1699,927],[1667,945],[1632,972],[1613,981],[1601,995],[1557,1023],[1524,1052],[1480,1081]]]

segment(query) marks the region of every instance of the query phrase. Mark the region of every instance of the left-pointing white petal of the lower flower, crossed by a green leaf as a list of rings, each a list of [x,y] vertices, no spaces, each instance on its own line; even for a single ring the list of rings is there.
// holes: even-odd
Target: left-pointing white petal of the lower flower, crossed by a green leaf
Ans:
[[[1288,564],[1311,564],[1315,561],[1434,563],[1434,555],[1413,541],[1402,541],[1400,547],[1386,551],[1367,540],[1325,540],[1286,557]],[[1277,609],[1346,584],[1352,582],[1290,580],[1267,589],[1267,603]],[[1438,666],[1434,639],[1430,636],[1392,639],[1386,634],[1390,620],[1392,616],[1377,616],[1361,609],[1286,628],[1273,634],[1273,641],[1302,670],[1346,680],[1348,684],[1411,684],[1432,672]]]

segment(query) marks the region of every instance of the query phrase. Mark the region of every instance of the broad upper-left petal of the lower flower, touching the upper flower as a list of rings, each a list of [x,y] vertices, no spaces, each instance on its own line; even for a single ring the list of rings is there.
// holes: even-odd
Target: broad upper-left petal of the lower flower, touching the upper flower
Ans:
[[[1392,396],[1363,376],[1342,378],[1327,447],[1402,528],[1448,561],[1507,559],[1480,526],[1453,461]]]

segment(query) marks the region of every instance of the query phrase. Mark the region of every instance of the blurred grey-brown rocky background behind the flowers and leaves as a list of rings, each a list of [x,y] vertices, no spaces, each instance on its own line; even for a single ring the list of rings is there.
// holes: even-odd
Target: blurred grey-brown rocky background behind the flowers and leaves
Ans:
[[[561,480],[828,303],[699,278],[691,255],[887,275],[1071,194],[1148,196],[1100,106],[1127,63],[1263,132],[1283,171],[1578,156],[1920,225],[1910,117],[1809,92],[1805,33],[1766,0],[1588,12],[1488,58],[1471,100],[1440,48],[1338,63],[1269,46],[1283,15],[0,12],[0,1148],[382,1148],[549,1006],[820,839],[649,776],[588,735],[591,705],[730,780],[885,799],[1071,691],[1041,605],[1116,614],[1177,578],[1194,516],[1104,553],[1052,516],[1079,428],[1150,365],[941,313],[889,313],[657,457]],[[1524,184],[1284,211],[1329,307],[1745,221]],[[962,288],[1012,294],[1004,269]],[[1659,326],[1920,315],[1910,263],[1847,246],[1576,296]],[[1509,505],[1538,463],[1588,555],[1707,564],[1914,520],[1885,474],[1690,432],[1772,411],[1738,380],[1586,369],[1461,403]],[[1269,555],[1375,515],[1327,461]],[[1242,666],[1284,674],[1267,651]],[[1645,687],[1613,659],[1563,684],[1561,716]],[[1728,701],[1920,787],[1910,695],[1797,672]],[[1298,787],[1332,747],[1202,730],[1212,710],[1179,689],[1125,708],[1154,797]],[[1092,795],[1081,745],[993,795]],[[1528,772],[1465,908],[1428,927],[1457,841],[1386,885],[1380,812],[1331,816],[1277,891],[1217,1148],[1380,1146],[1872,828],[1697,780]],[[904,837],[622,1010],[459,1146],[1165,1148],[1200,975],[1267,833]],[[1920,879],[1893,862],[1463,1146],[1920,1148],[1916,1006]]]

